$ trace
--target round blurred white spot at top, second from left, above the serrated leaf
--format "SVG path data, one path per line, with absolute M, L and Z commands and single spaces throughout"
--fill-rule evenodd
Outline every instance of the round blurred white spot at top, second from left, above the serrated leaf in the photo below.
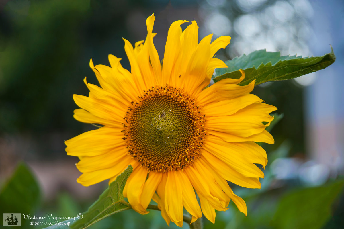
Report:
M 255 16 L 246 14 L 234 22 L 234 29 L 243 37 L 254 36 L 261 31 L 261 25 Z

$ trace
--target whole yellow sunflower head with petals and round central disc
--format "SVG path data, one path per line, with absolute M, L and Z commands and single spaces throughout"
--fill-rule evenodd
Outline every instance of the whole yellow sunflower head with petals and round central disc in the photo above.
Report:
M 80 159 L 78 183 L 111 183 L 131 165 L 123 195 L 132 208 L 147 214 L 153 199 L 166 223 L 180 227 L 183 207 L 192 222 L 202 212 L 215 222 L 215 209 L 225 211 L 232 199 L 246 215 L 244 200 L 227 181 L 260 188 L 264 173 L 255 164 L 265 168 L 267 155 L 255 142 L 273 143 L 265 128 L 273 120 L 269 113 L 276 110 L 248 94 L 254 81 L 237 85 L 245 77 L 242 70 L 240 79 L 207 87 L 214 69 L 227 67 L 213 56 L 230 37 L 211 43 L 210 34 L 198 43 L 197 23 L 182 31 L 185 22 L 171 24 L 162 64 L 153 44 L 154 15 L 147 19 L 146 41 L 132 47 L 123 39 L 131 72 L 113 55 L 111 67 L 94 66 L 91 59 L 101 87 L 84 79 L 89 96 L 73 96 L 81 108 L 74 118 L 103 126 L 65 142 L 67 154 Z

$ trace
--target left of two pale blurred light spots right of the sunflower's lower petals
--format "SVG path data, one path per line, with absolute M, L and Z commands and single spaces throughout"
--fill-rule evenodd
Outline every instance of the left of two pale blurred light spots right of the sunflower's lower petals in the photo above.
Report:
M 277 179 L 294 179 L 298 177 L 300 164 L 293 158 L 278 158 L 271 163 L 271 172 Z

